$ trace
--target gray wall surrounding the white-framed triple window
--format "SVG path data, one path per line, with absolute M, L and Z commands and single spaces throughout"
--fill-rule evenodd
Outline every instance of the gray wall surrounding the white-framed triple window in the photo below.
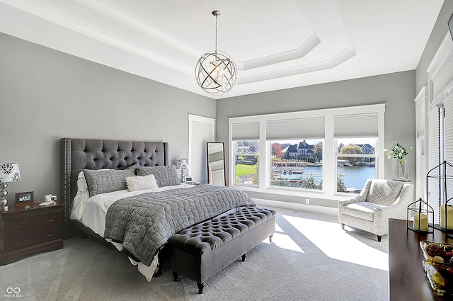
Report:
M 228 153 L 228 118 L 231 117 L 386 103 L 385 145 L 390 147 L 400 142 L 405 147 L 415 147 L 414 98 L 415 70 L 224 98 L 217 100 L 216 137 L 217 141 L 226 142 Z M 381 149 L 377 151 L 382 152 Z M 229 154 L 226 158 L 229 159 Z M 393 178 L 394 162 L 385 162 L 385 178 Z M 411 178 L 415 178 L 415 152 L 409 154 L 408 162 Z M 255 198 L 300 201 L 299 198 L 287 196 L 248 194 Z M 314 204 L 336 205 L 321 199 Z

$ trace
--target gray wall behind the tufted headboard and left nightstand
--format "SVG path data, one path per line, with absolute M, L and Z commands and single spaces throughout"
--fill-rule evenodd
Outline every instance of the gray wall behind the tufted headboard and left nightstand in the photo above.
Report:
M 211 98 L 0 33 L 0 162 L 9 183 L 35 200 L 59 193 L 62 137 L 169 142 L 170 163 L 188 156 L 188 113 L 215 118 Z

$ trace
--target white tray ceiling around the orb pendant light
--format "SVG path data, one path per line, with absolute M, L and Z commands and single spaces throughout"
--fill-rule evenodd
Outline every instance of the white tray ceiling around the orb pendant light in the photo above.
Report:
M 0 0 L 0 32 L 210 98 L 413 70 L 444 0 Z M 210 96 L 197 59 L 238 81 Z M 446 32 L 447 32 L 446 25 Z

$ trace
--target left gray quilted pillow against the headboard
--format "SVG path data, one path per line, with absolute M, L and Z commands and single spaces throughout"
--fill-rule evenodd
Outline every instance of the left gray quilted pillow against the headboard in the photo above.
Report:
M 134 169 L 84 169 L 84 174 L 90 198 L 99 193 L 110 193 L 127 189 L 125 178 L 127 176 L 135 176 Z

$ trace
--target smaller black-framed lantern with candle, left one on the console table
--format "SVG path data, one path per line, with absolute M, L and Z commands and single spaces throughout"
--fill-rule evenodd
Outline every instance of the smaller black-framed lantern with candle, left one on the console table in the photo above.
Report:
M 409 225 L 409 220 L 413 215 L 413 225 Z M 408 214 L 406 217 L 408 229 L 417 233 L 434 233 L 434 210 L 424 200 L 419 198 L 408 205 Z

